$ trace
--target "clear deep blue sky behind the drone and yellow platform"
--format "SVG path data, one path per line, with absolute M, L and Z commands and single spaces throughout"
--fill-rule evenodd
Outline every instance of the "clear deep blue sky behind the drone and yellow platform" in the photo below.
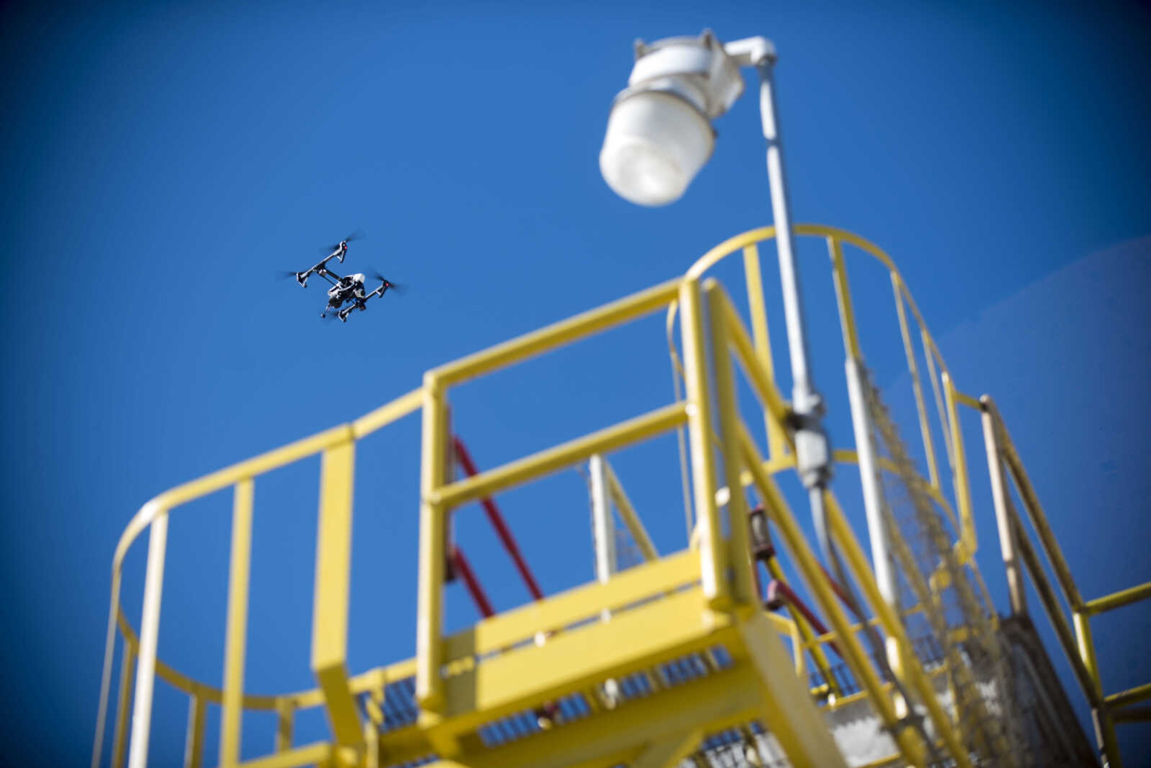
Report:
M 108 567 L 148 497 L 355 418 L 434 365 L 674 276 L 768 223 L 754 99 L 718 121 L 715 157 L 677 205 L 631 206 L 599 174 L 632 40 L 706 26 L 775 39 L 796 220 L 853 229 L 895 257 L 960 386 L 999 401 L 1083 592 L 1148 578 L 1137 446 L 1149 416 L 1146 9 L 8 3 L 9 754 L 37 744 L 45 760 L 86 759 Z M 318 290 L 274 272 L 310 266 L 318 246 L 358 227 L 368 238 L 350 264 L 410 290 L 345 326 L 323 324 Z M 801 258 L 816 381 L 833 438 L 849 444 L 834 410 L 843 368 L 825 257 L 805 246 Z M 853 277 L 875 283 L 851 264 Z M 889 341 L 864 344 L 895 397 L 901 349 Z M 782 350 L 780 341 L 780 363 Z M 670 397 L 653 318 L 470 385 L 452 403 L 478 462 L 491 466 Z M 977 419 L 967 427 L 978 458 Z M 418 431 L 407 419 L 359 449 L 356 670 L 414 646 Z M 613 457 L 664 550 L 684 538 L 678 481 L 664 473 L 674 461 L 670 439 Z M 304 462 L 257 484 L 251 690 L 310 685 L 317 472 Z M 844 495 L 857 493 L 852 472 L 840 470 Z M 984 487 L 982 472 L 973 481 Z M 197 502 L 171 524 L 161 655 L 206 679 L 222 668 L 228 503 Z M 547 591 L 590 578 L 578 474 L 501 503 Z M 978 515 L 981 562 L 1001 598 L 985 493 Z M 527 595 L 482 523 L 462 511 L 458 537 L 497 607 L 518 604 Z M 143 549 L 125 568 L 130 611 Z M 474 613 L 451 590 L 449 625 L 459 626 Z M 1110 690 L 1151 679 L 1133 644 L 1107 639 L 1145 626 L 1141 610 L 1097 624 Z M 182 707 L 161 686 L 158 765 L 178 760 Z M 1137 745 L 1138 727 L 1127 728 Z M 245 752 L 270 743 L 264 720 L 245 733 Z

